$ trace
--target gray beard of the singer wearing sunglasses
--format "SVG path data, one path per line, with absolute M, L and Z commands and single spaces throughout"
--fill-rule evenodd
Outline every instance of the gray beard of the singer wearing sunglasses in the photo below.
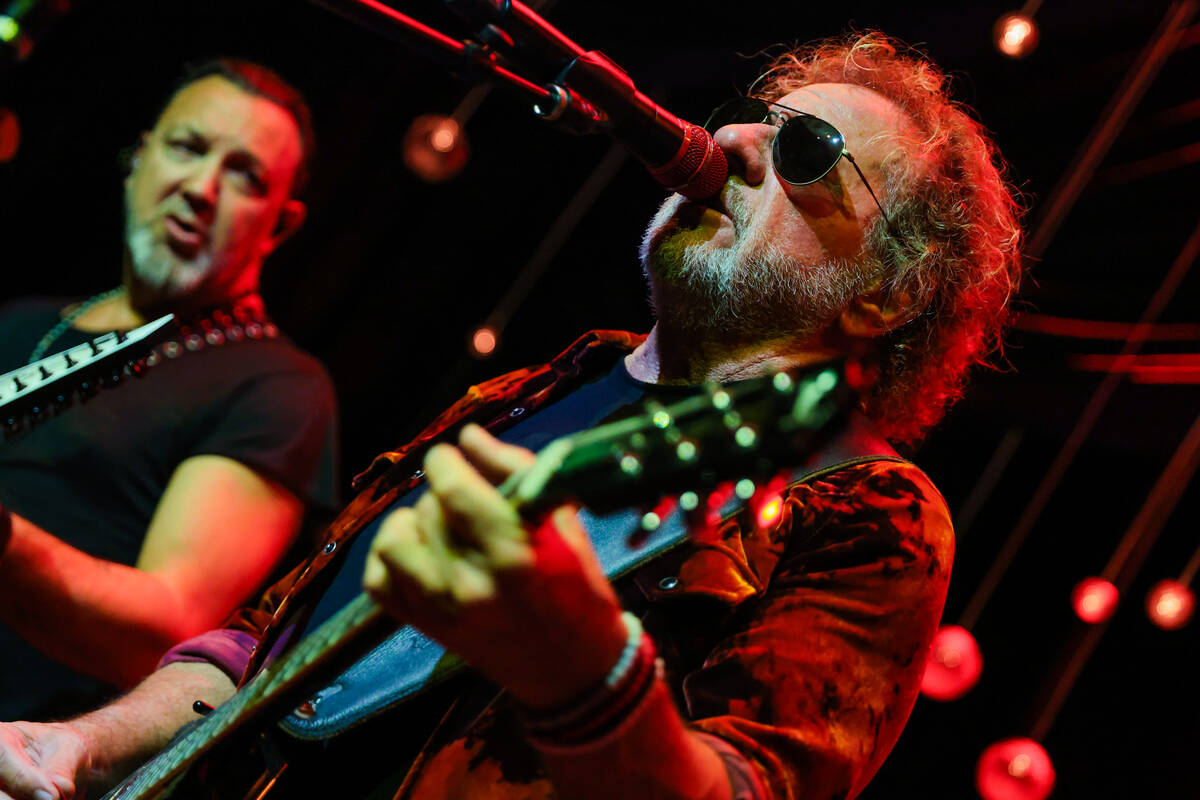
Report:
M 864 271 L 844 259 L 796 263 L 745 219 L 734 198 L 734 247 L 706 247 L 686 229 L 659 237 L 674 210 L 670 200 L 650 222 L 641 258 L 655 318 L 722 341 L 810 339 L 865 290 Z

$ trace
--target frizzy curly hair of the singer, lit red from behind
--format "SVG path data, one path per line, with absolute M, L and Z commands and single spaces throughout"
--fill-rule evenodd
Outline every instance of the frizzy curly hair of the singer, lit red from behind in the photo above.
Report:
M 778 100 L 816 83 L 871 89 L 899 107 L 916 136 L 883 160 L 880 198 L 890 230 L 868 231 L 866 266 L 906 291 L 916 318 L 881 337 L 878 379 L 864 405 L 884 435 L 913 443 L 962 392 L 966 374 L 1000 345 L 1021 277 L 1021 206 L 983 126 L 949 98 L 946 74 L 878 31 L 791 50 L 758 79 Z

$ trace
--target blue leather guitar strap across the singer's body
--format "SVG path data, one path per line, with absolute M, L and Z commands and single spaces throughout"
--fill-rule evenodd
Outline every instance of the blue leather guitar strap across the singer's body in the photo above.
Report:
M 875 433 L 865 416 L 853 413 L 841 432 L 792 471 L 788 485 L 871 461 L 904 459 Z M 721 517 L 736 513 L 742 505 L 740 499 L 731 497 L 720 509 Z M 641 518 L 636 509 L 602 517 L 580 511 L 600 565 L 611 581 L 688 540 L 688 527 L 678 507 L 648 534 L 641 530 Z M 631 539 L 635 533 L 636 539 Z M 330 739 L 432 688 L 463 667 L 463 662 L 442 645 L 406 625 L 317 692 L 305 704 L 304 715 L 293 712 L 280 727 L 298 739 Z

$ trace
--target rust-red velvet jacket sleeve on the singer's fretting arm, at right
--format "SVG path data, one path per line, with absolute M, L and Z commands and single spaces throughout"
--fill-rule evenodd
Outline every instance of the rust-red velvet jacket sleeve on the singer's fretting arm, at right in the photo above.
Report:
M 772 798 L 853 796 L 912 710 L 953 551 L 944 501 L 905 462 L 792 487 L 772 530 L 731 523 L 680 571 L 694 591 L 750 591 L 684 678 L 686 715 Z

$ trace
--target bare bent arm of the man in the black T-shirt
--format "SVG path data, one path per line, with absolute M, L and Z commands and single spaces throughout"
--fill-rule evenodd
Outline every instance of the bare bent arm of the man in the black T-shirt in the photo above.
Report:
M 72 668 L 132 685 L 262 583 L 301 515 L 290 492 L 222 456 L 176 468 L 136 567 L 92 558 L 13 515 L 0 619 Z

